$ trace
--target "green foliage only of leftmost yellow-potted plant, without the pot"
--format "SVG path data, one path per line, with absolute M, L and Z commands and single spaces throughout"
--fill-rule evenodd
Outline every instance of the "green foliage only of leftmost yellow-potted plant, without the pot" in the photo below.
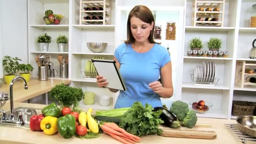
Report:
M 19 61 L 22 61 L 21 59 L 17 57 L 11 57 L 11 56 L 4 56 L 3 57 L 3 68 L 7 75 L 15 75 L 16 72 L 19 70 Z

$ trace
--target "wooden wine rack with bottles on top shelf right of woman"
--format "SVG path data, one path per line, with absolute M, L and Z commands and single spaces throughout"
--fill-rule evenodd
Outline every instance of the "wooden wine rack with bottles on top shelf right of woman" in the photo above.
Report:
M 192 26 L 223 27 L 225 0 L 193 0 Z

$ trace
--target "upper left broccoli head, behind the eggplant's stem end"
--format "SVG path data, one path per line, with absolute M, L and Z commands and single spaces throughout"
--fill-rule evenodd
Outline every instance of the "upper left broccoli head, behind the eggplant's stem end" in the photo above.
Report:
M 189 112 L 189 105 L 183 101 L 174 101 L 171 105 L 170 111 L 182 121 Z

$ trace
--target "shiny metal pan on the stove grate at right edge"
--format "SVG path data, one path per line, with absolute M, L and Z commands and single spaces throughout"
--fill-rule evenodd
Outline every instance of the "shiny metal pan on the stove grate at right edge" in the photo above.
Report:
M 243 133 L 256 137 L 256 116 L 241 116 L 237 117 L 236 121 Z

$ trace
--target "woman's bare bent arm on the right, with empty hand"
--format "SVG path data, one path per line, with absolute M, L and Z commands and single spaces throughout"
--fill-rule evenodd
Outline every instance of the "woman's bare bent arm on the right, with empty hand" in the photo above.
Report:
M 160 69 L 162 84 L 158 81 L 149 83 L 149 87 L 162 98 L 173 96 L 173 83 L 171 74 L 171 61 Z

